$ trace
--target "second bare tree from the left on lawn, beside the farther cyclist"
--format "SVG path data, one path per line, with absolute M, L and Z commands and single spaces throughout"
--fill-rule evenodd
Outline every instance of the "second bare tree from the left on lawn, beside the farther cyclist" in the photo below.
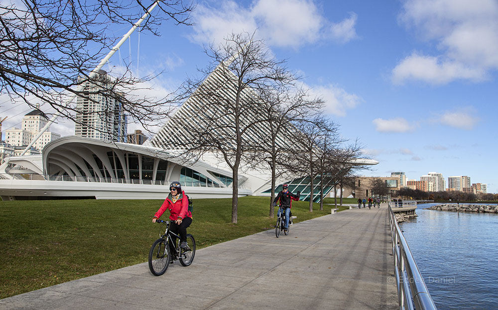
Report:
M 311 98 L 306 89 L 288 88 L 275 91 L 262 90 L 261 102 L 266 116 L 263 126 L 268 130 L 268 136 L 255 145 L 259 150 L 261 161 L 268 163 L 271 170 L 271 195 L 269 216 L 274 216 L 273 200 L 278 175 L 286 172 L 285 166 L 278 165 L 290 156 L 287 151 L 292 148 L 296 128 L 293 122 L 307 119 L 317 113 L 323 105 L 319 98 Z

